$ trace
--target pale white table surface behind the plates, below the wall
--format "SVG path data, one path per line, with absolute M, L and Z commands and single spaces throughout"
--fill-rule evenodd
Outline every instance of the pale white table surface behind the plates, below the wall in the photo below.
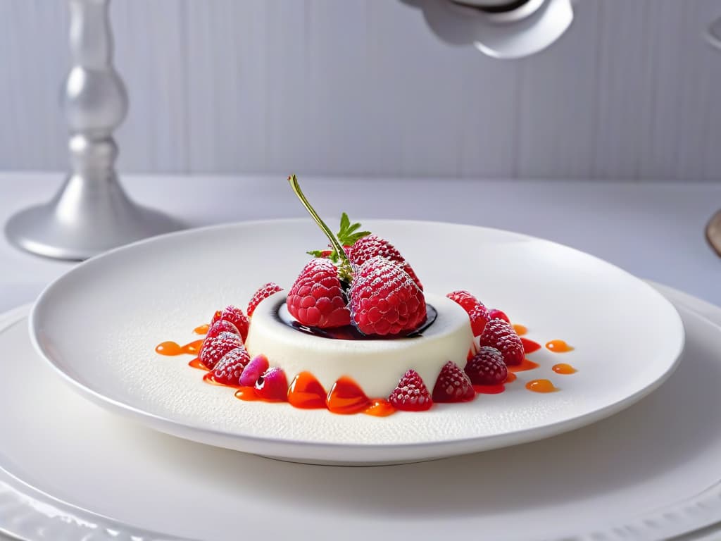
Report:
M 0 173 L 0 222 L 50 198 L 62 176 Z M 345 210 L 352 219 L 429 219 L 510 229 L 576 247 L 721 304 L 721 258 L 703 232 L 709 216 L 721 208 L 721 183 L 300 178 L 324 216 Z M 162 208 L 189 226 L 306 216 L 283 175 L 127 176 L 123 182 L 136 201 Z M 0 312 L 32 301 L 72 265 L 19 252 L 2 237 Z M 717 533 L 704 530 L 684 539 L 715 539 Z

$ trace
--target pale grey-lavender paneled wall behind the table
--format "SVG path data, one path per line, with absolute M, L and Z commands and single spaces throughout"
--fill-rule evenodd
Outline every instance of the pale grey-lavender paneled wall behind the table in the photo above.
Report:
M 578 0 L 544 53 L 399 0 L 113 0 L 120 168 L 721 180 L 719 0 Z M 64 169 L 63 0 L 0 0 L 0 170 Z

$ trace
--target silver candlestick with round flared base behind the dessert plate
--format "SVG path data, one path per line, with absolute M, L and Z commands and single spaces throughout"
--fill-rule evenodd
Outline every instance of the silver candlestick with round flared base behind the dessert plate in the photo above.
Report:
M 115 175 L 112 131 L 128 112 L 128 95 L 112 66 L 109 1 L 69 0 L 73 66 L 63 107 L 71 174 L 49 203 L 19 212 L 5 226 L 14 245 L 49 258 L 84 260 L 182 227 L 133 203 Z

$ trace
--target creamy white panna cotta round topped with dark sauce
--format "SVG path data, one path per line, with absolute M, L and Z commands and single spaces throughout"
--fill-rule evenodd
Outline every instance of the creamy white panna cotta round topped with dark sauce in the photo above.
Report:
M 297 330 L 278 317 L 286 296 L 276 293 L 253 312 L 245 346 L 250 356 L 267 356 L 280 366 L 288 382 L 309 371 L 326 391 L 343 376 L 350 377 L 371 398 L 385 398 L 409 369 L 423 378 L 429 392 L 443 365 L 453 361 L 461 369 L 473 345 L 468 314 L 445 296 L 426 295 L 438 316 L 421 335 L 410 338 L 341 340 Z

